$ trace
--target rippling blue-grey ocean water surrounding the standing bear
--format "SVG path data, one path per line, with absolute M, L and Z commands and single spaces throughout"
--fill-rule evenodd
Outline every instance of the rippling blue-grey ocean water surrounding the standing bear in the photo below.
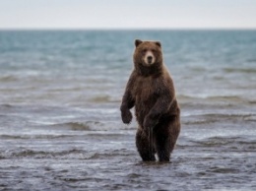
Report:
M 181 107 L 142 162 L 119 105 L 134 39 L 162 44 Z M 1 31 L 0 190 L 256 190 L 256 31 Z

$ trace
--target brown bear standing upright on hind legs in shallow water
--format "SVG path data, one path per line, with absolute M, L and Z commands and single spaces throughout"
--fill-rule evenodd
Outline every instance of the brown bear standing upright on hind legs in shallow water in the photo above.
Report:
M 134 70 L 120 106 L 122 121 L 131 122 L 130 109 L 135 106 L 139 123 L 136 146 L 141 158 L 156 160 L 157 153 L 160 161 L 169 161 L 180 132 L 173 82 L 163 65 L 160 41 L 136 39 L 135 46 Z

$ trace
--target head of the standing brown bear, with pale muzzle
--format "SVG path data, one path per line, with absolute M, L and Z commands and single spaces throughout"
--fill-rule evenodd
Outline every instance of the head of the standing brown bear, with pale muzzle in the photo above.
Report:
M 145 72 L 157 72 L 162 65 L 160 41 L 142 41 L 136 39 L 133 61 L 135 69 L 141 74 Z

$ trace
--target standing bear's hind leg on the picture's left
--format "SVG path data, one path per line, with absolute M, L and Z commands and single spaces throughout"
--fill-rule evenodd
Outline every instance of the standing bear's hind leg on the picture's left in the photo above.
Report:
M 136 134 L 136 146 L 141 158 L 144 161 L 155 161 L 155 149 L 150 149 L 149 136 L 139 128 Z

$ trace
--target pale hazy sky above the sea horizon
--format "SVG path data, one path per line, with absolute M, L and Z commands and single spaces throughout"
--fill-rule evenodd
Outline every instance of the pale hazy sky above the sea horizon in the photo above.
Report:
M 256 0 L 0 0 L 0 29 L 256 29 Z

